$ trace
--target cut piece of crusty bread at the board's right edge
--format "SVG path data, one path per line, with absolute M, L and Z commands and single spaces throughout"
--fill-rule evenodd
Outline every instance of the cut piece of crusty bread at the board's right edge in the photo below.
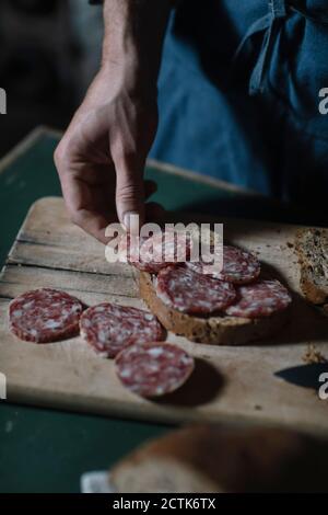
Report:
M 301 265 L 301 288 L 307 300 L 328 300 L 328 229 L 300 229 L 295 249 Z

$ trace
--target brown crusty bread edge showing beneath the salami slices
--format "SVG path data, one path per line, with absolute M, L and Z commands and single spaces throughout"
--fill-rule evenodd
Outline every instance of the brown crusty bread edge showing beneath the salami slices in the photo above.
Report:
M 166 306 L 157 297 L 152 276 L 140 273 L 140 296 L 167 331 L 192 342 L 214 345 L 242 345 L 265 339 L 277 332 L 288 320 L 289 309 L 271 317 L 248 319 L 239 317 L 192 317 Z

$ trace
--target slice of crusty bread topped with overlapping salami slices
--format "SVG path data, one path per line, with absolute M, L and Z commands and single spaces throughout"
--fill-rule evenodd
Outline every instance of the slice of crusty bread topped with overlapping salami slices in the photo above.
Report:
M 163 258 L 167 247 L 175 258 L 184 242 L 181 237 L 168 236 L 169 245 L 166 237 L 156 234 L 152 255 L 147 252 L 142 262 L 129 261 L 140 274 L 141 298 L 167 331 L 194 342 L 241 345 L 265 339 L 283 325 L 291 295 L 279 281 L 261 278 L 254 254 L 231 244 L 215 247 L 211 233 L 210 253 L 194 259 L 199 241 L 185 238 L 185 261 L 167 261 Z M 142 250 L 151 247 L 151 240 L 138 244 L 137 250 Z M 129 242 L 127 250 L 134 258 Z

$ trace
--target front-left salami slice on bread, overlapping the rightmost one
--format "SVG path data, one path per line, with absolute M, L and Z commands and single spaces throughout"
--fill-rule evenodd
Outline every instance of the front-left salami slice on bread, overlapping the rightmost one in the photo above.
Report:
M 236 297 L 232 284 L 197 274 L 186 266 L 167 266 L 160 271 L 155 288 L 164 304 L 189 314 L 221 311 Z

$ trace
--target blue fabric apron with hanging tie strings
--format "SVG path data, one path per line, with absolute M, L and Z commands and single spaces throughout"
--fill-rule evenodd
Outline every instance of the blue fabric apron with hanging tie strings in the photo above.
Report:
M 326 0 L 185 0 L 172 16 L 151 157 L 326 205 Z

